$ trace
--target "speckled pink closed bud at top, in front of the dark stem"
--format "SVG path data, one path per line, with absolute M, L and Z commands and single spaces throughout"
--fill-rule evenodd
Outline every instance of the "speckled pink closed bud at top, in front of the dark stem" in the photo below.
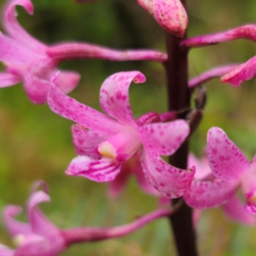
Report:
M 188 26 L 188 15 L 179 0 L 137 0 L 137 3 L 153 15 L 160 26 L 178 38 L 182 38 Z

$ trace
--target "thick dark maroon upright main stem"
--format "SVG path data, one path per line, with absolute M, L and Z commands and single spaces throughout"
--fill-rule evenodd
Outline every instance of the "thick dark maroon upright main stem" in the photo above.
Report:
M 185 7 L 185 0 L 181 1 Z M 190 108 L 190 92 L 188 87 L 188 50 L 181 49 L 182 39 L 166 32 L 166 50 L 168 61 L 165 63 L 168 110 L 181 111 Z M 186 112 L 184 112 L 186 113 Z M 181 116 L 185 118 L 185 116 Z M 186 140 L 175 154 L 170 157 L 173 166 L 187 169 L 189 140 Z M 174 204 L 182 199 L 174 200 Z M 195 230 L 192 222 L 192 209 L 183 203 L 177 212 L 170 216 L 173 235 L 179 256 L 197 256 Z

